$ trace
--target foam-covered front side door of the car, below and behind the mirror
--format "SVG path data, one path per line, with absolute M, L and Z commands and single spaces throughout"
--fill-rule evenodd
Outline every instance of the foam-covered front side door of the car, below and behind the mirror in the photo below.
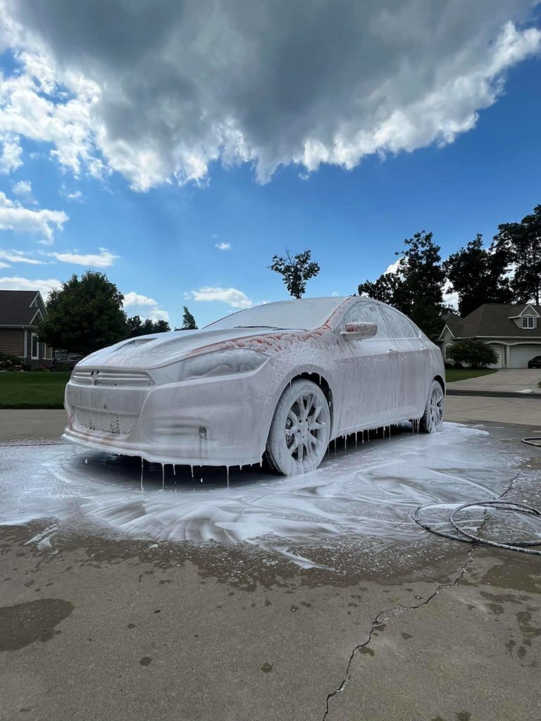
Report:
M 363 340 L 346 340 L 349 322 L 374 322 L 377 334 Z M 338 377 L 342 380 L 339 433 L 377 428 L 394 417 L 395 381 L 390 372 L 387 325 L 374 301 L 359 299 L 344 314 L 336 332 L 340 337 Z

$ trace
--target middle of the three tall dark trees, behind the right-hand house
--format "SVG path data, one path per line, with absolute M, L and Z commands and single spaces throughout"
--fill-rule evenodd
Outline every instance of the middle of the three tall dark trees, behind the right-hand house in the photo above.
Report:
M 483 236 L 477 234 L 465 248 L 449 255 L 443 263 L 452 290 L 458 293 L 458 311 L 467 316 L 483 303 L 511 303 L 513 294 L 506 272 L 509 252 L 495 244 L 483 248 Z

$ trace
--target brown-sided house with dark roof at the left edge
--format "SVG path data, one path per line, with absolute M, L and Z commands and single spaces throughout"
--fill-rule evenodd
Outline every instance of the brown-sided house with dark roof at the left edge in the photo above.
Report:
M 0 291 L 0 353 L 17 355 L 30 366 L 50 366 L 50 347 L 38 340 L 36 325 L 46 313 L 39 292 Z

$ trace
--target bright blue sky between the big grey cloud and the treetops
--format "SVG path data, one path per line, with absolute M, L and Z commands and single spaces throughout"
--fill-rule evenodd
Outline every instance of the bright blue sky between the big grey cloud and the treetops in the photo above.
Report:
M 524 27 L 536 27 L 532 17 Z M 29 74 L 21 51 L 17 44 L 1 56 L 4 81 Z M 41 77 L 33 102 L 44 97 L 59 106 L 66 97 L 76 98 L 73 86 L 68 96 L 61 94 L 66 87 L 59 77 L 49 87 Z M 174 327 L 188 305 L 203 325 L 243 304 L 286 298 L 281 278 L 268 270 L 272 256 L 286 247 L 312 250 L 321 272 L 309 281 L 307 296 L 320 296 L 356 292 L 360 282 L 395 261 L 406 236 L 421 229 L 434 231 L 444 256 L 478 232 L 490 241 L 498 223 L 519 220 L 541 202 L 537 50 L 509 63 L 490 83 L 501 84 L 491 102 L 481 97 L 478 107 L 467 110 L 478 110 L 475 126 L 443 146 L 428 133 L 411 150 L 376 148 L 352 169 L 333 160 L 312 172 L 291 162 L 290 151 L 289 162 L 275 163 L 267 182 L 260 182 L 255 169 L 263 149 L 230 167 L 224 167 L 223 154 L 209 156 L 202 177 L 188 182 L 184 176 L 178 182 L 178 168 L 171 173 L 160 165 L 159 180 L 134 189 L 133 169 L 123 169 L 122 158 L 105 141 L 100 147 L 97 125 L 89 129 L 79 115 L 77 127 L 93 133 L 87 157 L 81 151 L 86 141 L 77 141 L 79 168 L 56 131 L 43 125 L 32 137 L 19 119 L 2 135 L 0 123 L 0 141 L 12 143 L 0 175 L 7 218 L 0 226 L 0 287 L 45 292 L 92 268 L 126 294 L 128 314 L 169 317 Z M 4 106 L 4 112 L 11 111 Z M 129 138 L 133 145 L 137 141 Z M 18 153 L 13 162 L 10 152 Z M 48 220 L 38 218 L 39 211 L 66 215 Z

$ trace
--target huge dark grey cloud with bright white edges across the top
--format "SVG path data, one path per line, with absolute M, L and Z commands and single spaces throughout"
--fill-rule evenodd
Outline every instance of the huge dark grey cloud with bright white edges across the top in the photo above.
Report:
M 534 53 L 532 0 L 6 0 L 23 71 L 0 133 L 138 190 L 205 182 L 211 162 L 353 168 L 454 141 Z M 118 32 L 122 28 L 122 32 Z

